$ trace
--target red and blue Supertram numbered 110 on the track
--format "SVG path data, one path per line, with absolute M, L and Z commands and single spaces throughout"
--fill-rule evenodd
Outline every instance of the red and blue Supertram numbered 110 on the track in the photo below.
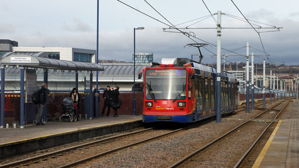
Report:
M 215 116 L 216 70 L 190 62 L 143 69 L 144 123 L 191 123 Z M 237 109 L 237 80 L 222 72 L 221 113 Z

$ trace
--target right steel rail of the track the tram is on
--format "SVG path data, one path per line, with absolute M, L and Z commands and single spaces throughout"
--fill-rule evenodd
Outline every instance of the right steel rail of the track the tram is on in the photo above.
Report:
M 83 162 L 85 162 L 87 160 L 90 160 L 90 159 L 93 159 L 93 158 L 96 158 L 96 157 L 99 157 L 99 156 L 103 156 L 105 154 L 112 153 L 112 152 L 115 152 L 115 151 L 118 151 L 118 150 L 130 147 L 130 146 L 134 146 L 134 145 L 146 142 L 146 141 L 150 141 L 150 140 L 153 140 L 153 139 L 156 139 L 156 138 L 160 138 L 160 137 L 163 137 L 165 135 L 181 131 L 183 129 L 185 129 L 185 128 L 180 128 L 180 129 L 177 129 L 177 130 L 174 130 L 174 131 L 170 131 L 170 132 L 162 134 L 162 135 L 158 135 L 158 136 L 155 136 L 155 137 L 152 137 L 152 138 L 148 138 L 148 139 L 145 139 L 145 140 L 142 140 L 142 141 L 134 142 L 134 143 L 131 143 L 131 144 L 128 144 L 128 145 L 125 145 L 125 146 L 118 147 L 118 148 L 114 148 L 114 149 L 111 149 L 111 150 L 108 150 L 108 151 L 105 151 L 105 152 L 102 152 L 102 153 L 95 154 L 95 155 L 90 156 L 90 157 L 86 157 L 86 158 L 81 159 L 81 160 L 77 160 L 77 161 L 69 163 L 69 164 L 65 164 L 65 165 L 59 166 L 58 168 L 75 166 L 75 165 L 83 163 Z

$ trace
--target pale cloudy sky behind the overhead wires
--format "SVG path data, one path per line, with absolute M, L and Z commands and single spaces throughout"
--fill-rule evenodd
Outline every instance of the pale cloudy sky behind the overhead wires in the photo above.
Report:
M 161 21 L 173 25 L 210 15 L 203 1 L 199 0 L 122 0 L 133 8 Z M 154 9 L 154 7 L 161 17 Z M 299 47 L 299 2 L 295 0 L 278 1 L 241 1 L 233 0 L 242 14 L 249 20 L 283 27 L 280 31 L 260 33 L 265 51 L 270 54 L 271 63 L 280 65 L 299 65 L 297 48 Z M 242 17 L 230 0 L 205 1 L 212 14 L 221 11 L 221 26 L 251 27 L 248 23 L 229 16 Z M 96 49 L 96 1 L 93 0 L 0 0 L 0 39 L 19 42 L 19 46 L 76 47 Z M 217 16 L 215 16 L 217 19 Z M 99 59 L 132 61 L 134 34 L 136 30 L 136 53 L 153 52 L 154 61 L 162 58 L 191 58 L 198 54 L 195 47 L 184 47 L 195 43 L 182 33 L 163 32 L 169 26 L 147 17 L 116 0 L 99 0 Z M 199 21 L 199 20 L 196 20 Z M 196 21 L 178 25 L 185 28 Z M 262 27 L 271 27 L 255 22 Z M 212 17 L 195 23 L 189 28 L 216 28 Z M 261 29 L 274 31 L 277 29 Z M 174 30 L 176 31 L 176 30 Z M 182 29 L 209 43 L 217 44 L 216 29 Z M 246 42 L 250 43 L 250 54 L 263 55 L 263 47 L 258 33 L 254 29 L 222 29 L 221 46 L 225 49 L 241 49 L 236 52 L 246 54 Z M 194 39 L 194 38 L 193 38 Z M 198 43 L 206 43 L 194 39 Z M 202 63 L 216 62 L 213 45 L 202 49 Z M 256 48 L 256 49 L 255 49 Z M 261 51 L 259 51 L 261 50 Z M 222 49 L 222 54 L 226 53 Z M 236 57 L 227 53 L 227 62 L 244 62 L 245 57 Z M 262 63 L 265 57 L 258 56 L 255 62 Z M 278 61 L 274 61 L 278 60 Z M 194 57 L 198 60 L 198 57 Z M 266 62 L 269 62 L 266 59 Z

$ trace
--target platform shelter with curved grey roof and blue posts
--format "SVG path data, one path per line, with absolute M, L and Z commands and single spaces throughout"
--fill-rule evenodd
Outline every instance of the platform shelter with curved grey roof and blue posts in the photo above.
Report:
M 35 106 L 31 102 L 31 95 L 36 91 L 37 76 L 36 70 L 43 69 L 43 83 L 48 83 L 48 72 L 58 71 L 75 72 L 75 87 L 78 88 L 78 73 L 82 71 L 89 72 L 89 80 L 92 81 L 94 71 L 104 71 L 104 67 L 94 63 L 71 62 L 65 60 L 55 60 L 47 58 L 47 52 L 23 53 L 23 52 L 8 52 L 4 54 L 0 60 L 1 67 L 1 101 L 0 101 L 0 128 L 4 128 L 4 106 L 5 106 L 5 69 L 9 67 L 20 67 L 20 128 L 24 128 L 24 115 L 34 111 Z M 26 80 L 24 79 L 26 73 Z M 26 83 L 25 83 L 26 81 Z M 66 80 L 67 82 L 67 80 Z M 26 84 L 26 87 L 25 87 Z M 89 119 L 93 118 L 93 92 L 92 82 L 89 83 L 88 98 L 90 103 Z M 26 88 L 26 90 L 25 90 Z M 96 95 L 98 96 L 98 94 Z M 47 96 L 46 96 L 47 97 Z M 97 107 L 97 105 L 95 105 Z M 31 112 L 30 112 L 31 111 Z M 44 114 L 47 111 L 47 98 L 44 104 Z M 46 115 L 43 120 L 46 121 Z

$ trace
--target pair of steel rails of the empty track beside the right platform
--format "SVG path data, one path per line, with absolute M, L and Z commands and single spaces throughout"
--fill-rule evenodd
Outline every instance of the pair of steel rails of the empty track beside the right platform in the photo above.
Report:
M 244 127 L 245 125 L 252 123 L 251 122 L 252 120 L 257 119 L 257 118 L 263 116 L 263 114 L 267 113 L 267 111 L 269 111 L 271 109 L 274 109 L 275 107 L 277 108 L 280 104 L 282 104 L 285 101 L 287 101 L 287 103 L 285 105 L 283 105 L 283 107 L 279 110 L 279 113 L 274 117 L 274 119 L 272 120 L 272 122 L 270 124 L 268 124 L 268 126 L 262 131 L 262 133 L 258 136 L 258 138 L 250 146 L 250 148 L 248 148 L 247 151 L 241 156 L 241 158 L 235 163 L 234 167 L 238 167 L 242 163 L 242 161 L 246 158 L 247 154 L 250 153 L 250 151 L 254 148 L 254 146 L 257 144 L 257 142 L 260 140 L 260 138 L 263 136 L 263 134 L 267 131 L 267 129 L 274 123 L 275 119 L 278 117 L 278 115 L 281 113 L 281 111 L 286 107 L 286 105 L 288 104 L 289 100 L 286 99 L 286 100 L 283 100 L 283 101 L 281 101 L 281 102 L 279 102 L 279 103 L 271 106 L 270 108 L 264 110 L 262 113 L 260 113 L 256 117 L 254 117 L 254 118 L 252 118 L 252 119 L 250 119 L 250 120 L 248 120 L 248 121 L 246 121 L 246 122 L 238 125 L 237 127 L 235 127 L 234 129 L 228 131 L 227 133 L 223 134 L 222 136 L 220 136 L 220 137 L 214 139 L 213 141 L 210 141 L 208 144 L 202 146 L 200 149 L 197 149 L 197 150 L 193 151 L 192 153 L 189 153 L 188 155 L 186 155 L 182 159 L 180 159 L 180 160 L 176 161 L 175 163 L 173 163 L 172 165 L 170 165 L 169 168 L 170 167 L 178 167 L 178 166 L 180 166 L 182 164 L 185 165 L 185 166 L 183 165 L 183 167 L 188 167 L 189 165 L 187 164 L 187 162 L 188 161 L 194 161 L 195 159 L 193 159 L 193 158 L 196 157 L 196 156 L 200 157 L 200 155 L 198 155 L 199 153 L 205 151 L 206 149 L 208 150 L 208 148 L 212 149 L 213 145 L 215 145 L 217 142 L 220 142 L 221 140 L 227 139 L 227 137 L 229 135 L 231 135 L 232 133 L 238 132 L 239 129 L 241 129 L 241 127 Z M 219 146 L 220 145 L 218 144 L 218 147 Z M 214 148 L 217 148 L 217 145 Z M 217 149 L 217 151 L 218 150 L 219 149 Z M 209 152 L 207 152 L 207 153 L 209 153 Z M 202 159 L 204 159 L 206 157 L 207 153 L 205 153 L 205 155 L 201 155 L 203 157 Z M 212 154 L 212 153 L 209 153 L 209 154 Z

